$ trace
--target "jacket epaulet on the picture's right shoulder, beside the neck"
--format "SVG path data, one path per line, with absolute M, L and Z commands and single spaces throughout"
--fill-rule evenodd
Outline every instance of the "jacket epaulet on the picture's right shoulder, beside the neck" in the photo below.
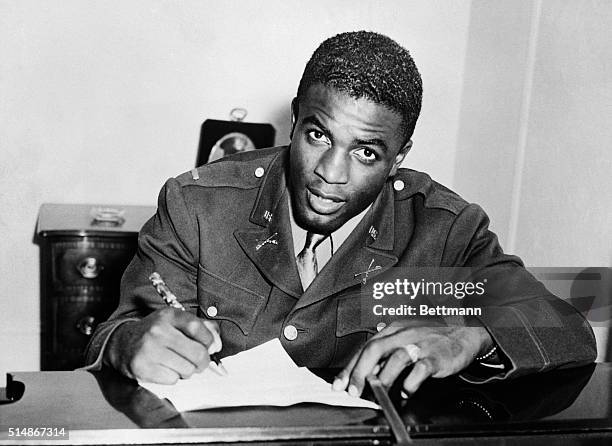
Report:
M 415 194 L 423 197 L 425 207 L 461 212 L 468 202 L 458 194 L 431 179 L 429 175 L 412 169 L 399 169 L 393 180 L 395 199 L 405 200 Z

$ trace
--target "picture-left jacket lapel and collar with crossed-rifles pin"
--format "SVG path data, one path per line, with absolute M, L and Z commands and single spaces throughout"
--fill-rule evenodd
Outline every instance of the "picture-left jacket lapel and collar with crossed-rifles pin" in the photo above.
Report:
M 286 151 L 270 163 L 251 212 L 257 225 L 234 231 L 245 254 L 266 279 L 296 299 L 302 294 L 289 223 Z

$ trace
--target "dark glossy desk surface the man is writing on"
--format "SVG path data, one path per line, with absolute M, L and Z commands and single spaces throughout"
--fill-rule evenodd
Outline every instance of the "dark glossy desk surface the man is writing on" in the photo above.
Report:
M 13 378 L 13 392 L 19 382 L 25 389 L 18 401 L 0 406 L 0 444 L 17 444 L 8 429 L 20 426 L 69 429 L 69 440 L 48 444 L 393 441 L 382 414 L 371 409 L 302 404 L 178 413 L 112 371 Z M 415 444 L 610 444 L 611 379 L 612 364 L 598 364 L 484 386 L 430 380 L 408 401 L 396 398 L 396 389 L 391 394 Z

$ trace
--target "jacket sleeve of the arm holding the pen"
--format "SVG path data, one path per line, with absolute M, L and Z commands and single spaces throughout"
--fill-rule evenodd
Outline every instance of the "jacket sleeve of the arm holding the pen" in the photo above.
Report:
M 119 306 L 98 325 L 87 346 L 86 370 L 101 367 L 104 347 L 120 324 L 164 306 L 149 281 L 152 272 L 164 278 L 187 310 L 196 311 L 198 224 L 182 189 L 170 179 L 159 193 L 157 212 L 140 231 L 136 255 L 121 279 Z

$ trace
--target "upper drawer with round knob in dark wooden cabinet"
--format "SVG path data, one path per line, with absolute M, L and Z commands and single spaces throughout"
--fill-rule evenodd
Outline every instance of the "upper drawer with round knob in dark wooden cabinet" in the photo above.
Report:
M 127 240 L 63 241 L 51 249 L 54 290 L 61 291 L 79 286 L 116 288 L 136 245 Z

